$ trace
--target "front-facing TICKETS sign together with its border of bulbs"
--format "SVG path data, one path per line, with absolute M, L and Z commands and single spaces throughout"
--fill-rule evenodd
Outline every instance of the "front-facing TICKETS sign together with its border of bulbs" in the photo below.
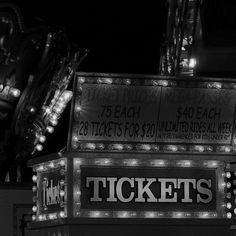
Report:
M 224 218 L 223 169 L 218 161 L 75 158 L 74 216 Z

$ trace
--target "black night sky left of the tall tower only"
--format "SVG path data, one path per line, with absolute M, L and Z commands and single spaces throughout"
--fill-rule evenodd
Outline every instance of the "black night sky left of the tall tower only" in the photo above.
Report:
M 91 49 L 78 71 L 158 74 L 166 31 L 166 1 L 127 2 L 14 1 L 26 27 L 37 24 L 62 27 L 71 45 Z M 44 150 L 34 156 L 57 152 L 66 146 L 69 113 L 70 104 L 55 132 L 47 136 Z

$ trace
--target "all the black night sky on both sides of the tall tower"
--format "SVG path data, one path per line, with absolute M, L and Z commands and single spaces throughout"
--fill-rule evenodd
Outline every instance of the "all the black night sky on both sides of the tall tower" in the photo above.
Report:
M 27 27 L 63 27 L 71 45 L 91 48 L 78 71 L 158 74 L 166 32 L 166 0 L 11 0 Z M 201 76 L 236 77 L 236 1 L 204 0 L 201 8 Z M 70 84 L 72 88 L 72 83 Z M 43 152 L 66 146 L 70 104 Z M 37 154 L 38 155 L 38 154 Z

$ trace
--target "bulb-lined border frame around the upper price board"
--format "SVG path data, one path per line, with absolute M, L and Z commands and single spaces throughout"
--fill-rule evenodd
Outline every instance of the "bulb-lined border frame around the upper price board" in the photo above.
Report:
M 129 75 L 129 74 L 105 74 L 105 73 L 76 73 L 74 78 L 74 96 L 71 105 L 69 135 L 67 142 L 68 151 L 82 152 L 148 152 L 148 153 L 196 153 L 196 154 L 233 154 L 236 152 L 236 119 L 235 108 L 232 118 L 231 143 L 225 144 L 204 144 L 204 143 L 173 143 L 164 141 L 138 142 L 138 141 L 110 141 L 110 140 L 74 140 L 73 122 L 76 99 L 82 94 L 83 84 L 112 84 L 112 85 L 133 85 L 133 86 L 155 86 L 155 87 L 177 87 L 177 88 L 199 88 L 199 89 L 229 89 L 235 90 L 236 83 L 232 79 L 218 78 L 187 78 L 154 75 Z

